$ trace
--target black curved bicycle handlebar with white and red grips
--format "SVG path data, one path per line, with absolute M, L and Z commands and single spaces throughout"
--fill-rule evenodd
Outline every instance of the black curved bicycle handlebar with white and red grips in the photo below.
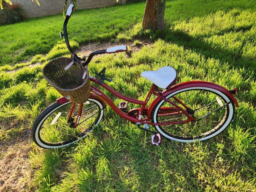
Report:
M 94 55 L 98 55 L 98 54 L 104 54 L 104 53 L 117 53 L 117 52 L 123 52 L 123 51 L 127 51 L 127 46 L 126 45 L 121 45 L 121 46 L 115 46 L 115 47 L 109 47 L 105 50 L 99 50 L 99 51 L 94 51 L 92 52 L 86 61 L 84 60 L 81 60 L 81 58 L 79 58 L 76 53 L 74 53 L 70 47 L 70 44 L 69 44 L 69 41 L 68 41 L 68 32 L 67 32 L 67 24 L 68 24 L 68 20 L 69 18 L 71 17 L 71 14 L 74 10 L 74 5 L 73 4 L 70 4 L 68 6 L 68 10 L 67 10 L 67 13 L 66 13 L 66 18 L 65 18 L 65 21 L 64 21 L 64 24 L 63 24 L 63 31 L 64 31 L 64 34 L 61 33 L 60 31 L 60 37 L 62 38 L 64 36 L 65 38 L 65 42 L 67 44 L 67 47 L 68 47 L 68 51 L 72 54 L 72 57 L 73 57 L 73 60 L 77 61 L 77 62 L 81 62 L 83 61 L 83 66 L 85 65 L 88 65 L 90 63 L 90 61 L 92 60 L 92 57 Z

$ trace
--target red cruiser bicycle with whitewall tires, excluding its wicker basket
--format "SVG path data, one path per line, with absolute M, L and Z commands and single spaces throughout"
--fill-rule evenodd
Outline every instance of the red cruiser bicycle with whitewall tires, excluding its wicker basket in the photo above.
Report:
M 127 51 L 127 46 L 110 47 L 92 52 L 88 59 L 80 59 L 68 42 L 67 23 L 74 5 L 68 8 L 64 21 L 65 41 L 74 61 L 87 67 L 96 54 Z M 42 148 L 61 148 L 84 138 L 103 118 L 106 103 L 121 117 L 136 124 L 138 128 L 154 133 L 152 142 L 161 144 L 161 136 L 180 142 L 207 140 L 222 132 L 230 123 L 235 113 L 237 100 L 233 95 L 236 89 L 228 91 L 224 87 L 205 81 L 176 83 L 177 73 L 172 67 L 162 67 L 156 71 L 144 71 L 141 76 L 152 82 L 144 101 L 126 97 L 115 91 L 104 81 L 111 81 L 104 76 L 105 68 L 95 72 L 100 79 L 89 76 L 90 81 L 111 92 L 116 97 L 138 104 L 140 108 L 126 111 L 127 102 L 117 107 L 103 92 L 91 85 L 90 98 L 85 103 L 72 103 L 61 97 L 48 106 L 36 118 L 32 135 L 35 143 Z M 148 100 L 154 95 L 154 100 Z M 153 125 L 156 131 L 149 129 Z M 143 127 L 142 127 L 143 126 Z

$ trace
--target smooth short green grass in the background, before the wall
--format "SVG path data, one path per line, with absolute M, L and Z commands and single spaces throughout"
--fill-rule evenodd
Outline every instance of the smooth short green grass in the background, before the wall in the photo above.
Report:
M 167 1 L 165 20 L 168 25 L 173 25 L 176 20 L 188 20 L 232 8 L 254 9 L 255 4 L 253 0 Z M 115 39 L 120 31 L 142 21 L 144 9 L 145 3 L 141 2 L 76 11 L 68 24 L 69 38 L 79 44 Z M 0 65 L 11 65 L 36 54 L 48 53 L 59 40 L 63 21 L 62 14 L 58 14 L 0 27 Z

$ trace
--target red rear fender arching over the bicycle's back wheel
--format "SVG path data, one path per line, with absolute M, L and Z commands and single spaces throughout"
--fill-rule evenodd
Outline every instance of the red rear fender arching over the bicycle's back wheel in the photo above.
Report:
M 226 88 L 215 84 L 215 83 L 211 83 L 211 82 L 207 82 L 207 81 L 188 81 L 188 82 L 184 82 L 184 83 L 180 83 L 180 84 L 176 84 L 174 86 L 172 86 L 170 89 L 165 90 L 162 92 L 162 96 L 166 97 L 167 95 L 176 92 L 178 90 L 181 89 L 186 89 L 189 87 L 207 87 L 207 88 L 212 88 L 212 89 L 216 89 L 220 92 L 225 93 L 231 100 L 233 100 L 233 102 L 235 103 L 236 107 L 238 107 L 238 102 L 235 99 L 235 97 L 232 95 L 231 92 L 229 92 Z M 156 97 L 152 103 L 149 105 L 148 107 L 148 118 L 150 118 L 151 116 L 151 112 L 153 110 L 153 108 L 155 107 L 155 105 L 162 100 L 160 97 Z

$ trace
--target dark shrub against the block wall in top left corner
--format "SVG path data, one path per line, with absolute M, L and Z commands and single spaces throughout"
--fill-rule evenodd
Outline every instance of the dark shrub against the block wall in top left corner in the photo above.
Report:
M 4 20 L 6 24 L 20 22 L 24 19 L 24 13 L 20 4 L 7 4 L 4 3 L 4 9 L 0 10 L 0 19 Z

